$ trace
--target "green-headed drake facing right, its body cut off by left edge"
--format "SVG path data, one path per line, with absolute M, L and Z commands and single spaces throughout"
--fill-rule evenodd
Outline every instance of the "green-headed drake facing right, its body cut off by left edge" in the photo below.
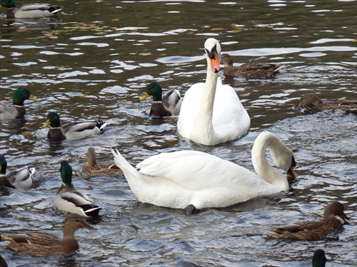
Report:
M 27 88 L 17 88 L 12 95 L 13 105 L 0 102 L 0 120 L 15 120 L 26 115 L 25 100 L 39 101 Z

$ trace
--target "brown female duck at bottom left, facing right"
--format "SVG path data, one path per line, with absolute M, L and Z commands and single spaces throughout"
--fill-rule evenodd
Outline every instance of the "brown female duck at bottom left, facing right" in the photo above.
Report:
M 83 218 L 78 215 L 67 216 L 64 220 L 64 237 L 43 232 L 25 232 L 9 234 L 8 241 L 5 241 L 9 248 L 21 251 L 34 256 L 52 256 L 70 253 L 79 249 L 78 241 L 74 237 L 74 232 L 78 229 L 96 230 L 96 228 L 86 224 Z

